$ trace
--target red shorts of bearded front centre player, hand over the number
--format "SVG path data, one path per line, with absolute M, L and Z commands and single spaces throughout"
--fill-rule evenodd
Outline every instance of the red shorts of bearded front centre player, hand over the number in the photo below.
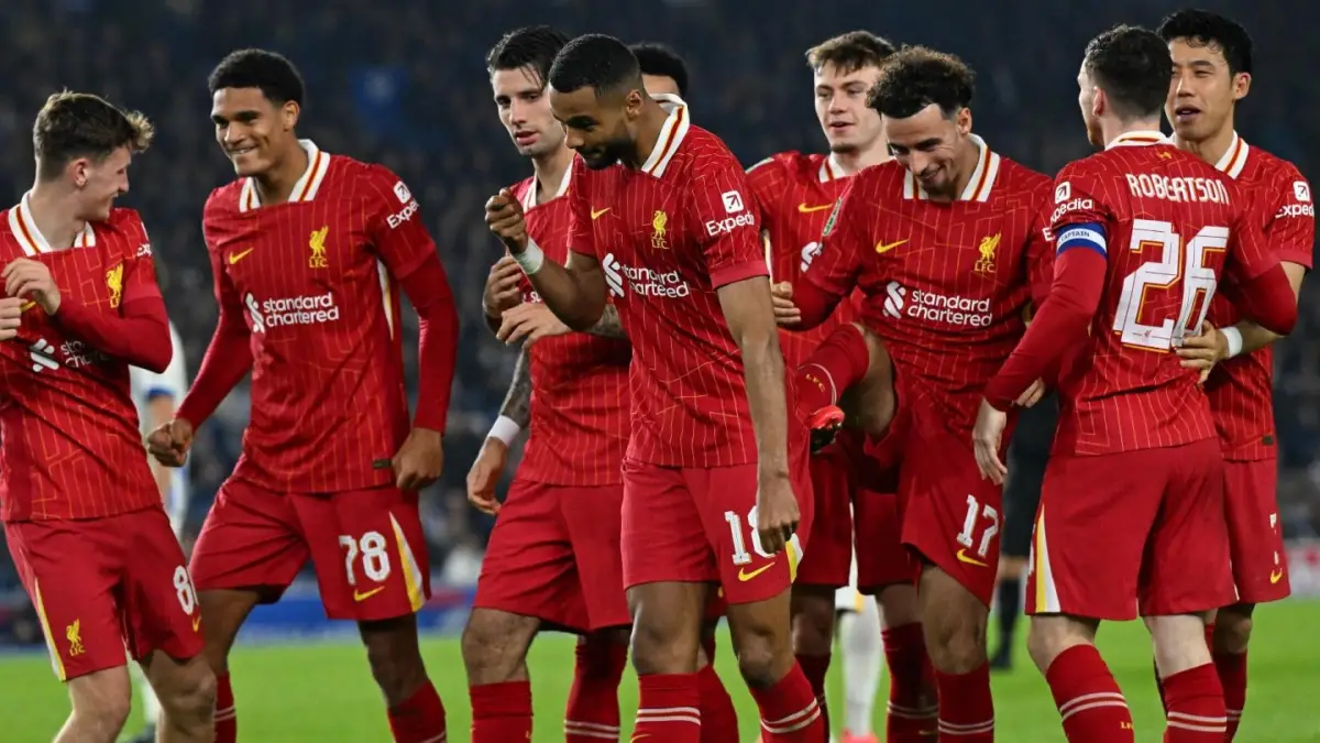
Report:
M 623 584 L 719 583 L 730 604 L 787 591 L 812 533 L 807 456 L 792 457 L 797 533 L 781 554 L 756 534 L 756 464 L 705 469 L 623 460 Z

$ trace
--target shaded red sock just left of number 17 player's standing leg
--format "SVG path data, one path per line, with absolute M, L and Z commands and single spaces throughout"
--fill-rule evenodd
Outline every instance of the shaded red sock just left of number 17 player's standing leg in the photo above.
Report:
M 890 743 L 928 743 L 939 727 L 935 670 L 925 653 L 921 624 L 887 627 L 884 660 L 890 666 L 890 703 L 884 738 Z

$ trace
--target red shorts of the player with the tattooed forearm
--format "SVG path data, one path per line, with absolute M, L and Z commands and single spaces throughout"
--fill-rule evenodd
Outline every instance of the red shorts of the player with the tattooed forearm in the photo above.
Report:
M 622 509 L 623 485 L 515 477 L 495 518 L 474 606 L 577 632 L 630 624 Z

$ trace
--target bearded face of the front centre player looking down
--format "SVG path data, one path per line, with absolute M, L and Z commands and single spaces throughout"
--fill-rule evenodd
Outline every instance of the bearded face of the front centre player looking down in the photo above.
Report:
M 632 123 L 642 112 L 642 102 L 636 90 L 598 95 L 590 86 L 570 91 L 550 87 L 550 110 L 564 124 L 566 144 L 594 171 L 636 149 Z

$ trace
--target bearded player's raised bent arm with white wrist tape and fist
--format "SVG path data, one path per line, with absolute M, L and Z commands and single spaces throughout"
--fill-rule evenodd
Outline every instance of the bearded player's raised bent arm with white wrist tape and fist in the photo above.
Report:
M 579 182 L 579 178 L 574 178 L 574 182 Z M 591 206 L 582 190 L 574 188 L 569 192 L 569 198 L 573 200 L 573 221 L 569 231 L 572 237 L 568 266 L 545 259 L 536 241 L 527 234 L 523 205 L 508 189 L 500 190 L 486 202 L 486 223 L 523 267 L 523 272 L 550 312 L 569 328 L 586 332 L 595 327 L 605 313 L 607 290 L 601 262 L 594 254 L 578 253 L 590 250 L 591 245 Z M 585 215 L 579 214 L 582 210 L 586 212 Z

